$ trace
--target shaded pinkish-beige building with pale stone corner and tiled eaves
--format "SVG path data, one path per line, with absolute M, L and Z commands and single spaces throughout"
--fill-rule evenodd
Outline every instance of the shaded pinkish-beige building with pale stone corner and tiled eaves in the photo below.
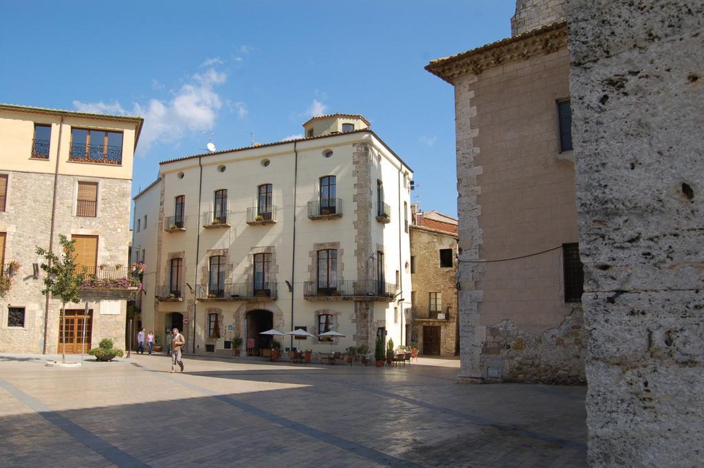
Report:
M 544 3 L 517 2 L 517 35 L 426 67 L 455 87 L 470 381 L 584 382 L 567 27 L 564 2 Z

